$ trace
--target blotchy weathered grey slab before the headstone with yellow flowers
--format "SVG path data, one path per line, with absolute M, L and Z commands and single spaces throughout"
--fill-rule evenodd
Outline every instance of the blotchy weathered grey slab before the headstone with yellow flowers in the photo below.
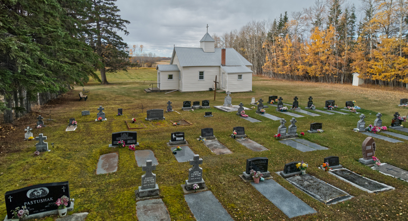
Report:
M 318 201 L 329 205 L 352 198 L 350 194 L 308 174 L 286 179 L 293 186 L 306 192 Z

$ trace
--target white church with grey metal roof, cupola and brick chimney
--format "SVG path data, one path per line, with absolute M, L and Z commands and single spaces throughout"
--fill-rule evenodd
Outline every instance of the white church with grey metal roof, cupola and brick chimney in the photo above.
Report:
M 208 32 L 200 48 L 174 47 L 170 64 L 157 65 L 157 84 L 160 90 L 230 92 L 252 91 L 252 64 L 235 49 L 215 48 Z

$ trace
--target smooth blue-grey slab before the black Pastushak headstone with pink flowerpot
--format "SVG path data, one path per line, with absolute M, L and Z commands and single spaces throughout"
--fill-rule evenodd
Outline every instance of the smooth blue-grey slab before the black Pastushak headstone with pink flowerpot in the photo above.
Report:
M 251 182 L 262 195 L 271 201 L 279 210 L 290 218 L 315 213 L 316 210 L 297 198 L 273 179 L 266 179 L 259 183 Z

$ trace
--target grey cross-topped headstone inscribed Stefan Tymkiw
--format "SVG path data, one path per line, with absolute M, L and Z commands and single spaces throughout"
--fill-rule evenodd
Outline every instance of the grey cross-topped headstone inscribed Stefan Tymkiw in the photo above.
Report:
M 156 165 L 152 164 L 151 160 L 146 160 L 146 166 L 142 166 L 142 171 L 146 173 L 142 175 L 142 186 L 139 186 L 138 196 L 151 197 L 159 195 L 159 186 L 156 184 L 156 175 L 152 172 L 156 170 Z

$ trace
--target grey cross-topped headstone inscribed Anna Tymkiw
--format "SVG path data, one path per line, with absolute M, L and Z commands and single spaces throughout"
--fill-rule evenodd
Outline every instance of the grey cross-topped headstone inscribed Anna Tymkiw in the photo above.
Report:
M 203 169 L 199 166 L 200 164 L 203 164 L 203 159 L 200 158 L 200 155 L 195 154 L 194 158 L 190 160 L 190 165 L 193 165 L 193 167 L 188 169 L 188 180 L 186 180 L 184 186 L 186 190 L 194 190 L 194 184 L 199 186 L 198 189 L 206 188 L 204 179 L 202 178 Z

